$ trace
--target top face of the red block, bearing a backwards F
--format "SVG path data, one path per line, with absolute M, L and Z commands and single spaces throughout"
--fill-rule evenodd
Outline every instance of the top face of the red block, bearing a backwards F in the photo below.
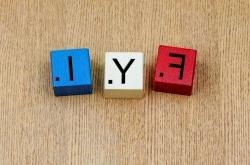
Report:
M 155 66 L 155 81 L 192 86 L 196 50 L 160 46 Z

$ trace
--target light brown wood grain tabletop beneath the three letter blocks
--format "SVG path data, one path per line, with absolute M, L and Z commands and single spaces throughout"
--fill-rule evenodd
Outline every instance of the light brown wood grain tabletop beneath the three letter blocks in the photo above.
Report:
M 160 44 L 197 49 L 191 97 L 152 90 Z M 94 94 L 54 97 L 82 47 Z M 143 99 L 103 98 L 106 51 L 145 53 Z M 250 164 L 249 51 L 249 0 L 0 0 L 0 164 Z

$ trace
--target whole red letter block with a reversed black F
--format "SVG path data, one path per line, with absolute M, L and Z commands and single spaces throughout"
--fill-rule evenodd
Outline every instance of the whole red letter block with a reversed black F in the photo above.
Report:
M 192 49 L 160 46 L 154 73 L 154 89 L 190 96 L 196 53 L 197 51 Z

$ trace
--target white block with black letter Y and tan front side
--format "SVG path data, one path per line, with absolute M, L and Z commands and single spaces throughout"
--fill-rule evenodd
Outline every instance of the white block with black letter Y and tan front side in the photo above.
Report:
M 104 97 L 142 98 L 144 55 L 141 52 L 105 54 Z

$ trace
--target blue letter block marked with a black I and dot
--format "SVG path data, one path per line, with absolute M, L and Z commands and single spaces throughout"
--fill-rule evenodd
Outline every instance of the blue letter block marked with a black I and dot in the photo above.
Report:
M 53 50 L 50 58 L 56 96 L 92 93 L 89 49 Z

